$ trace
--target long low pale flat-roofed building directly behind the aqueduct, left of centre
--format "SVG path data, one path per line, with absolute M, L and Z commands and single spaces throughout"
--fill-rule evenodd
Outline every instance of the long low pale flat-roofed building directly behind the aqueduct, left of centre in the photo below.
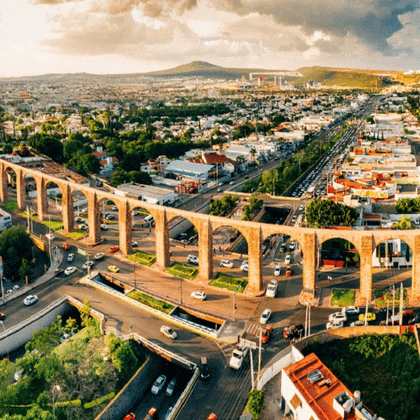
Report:
M 174 191 L 144 184 L 122 184 L 114 190 L 114 193 L 119 196 L 135 198 L 136 200 L 161 206 L 172 204 L 178 198 L 178 194 Z

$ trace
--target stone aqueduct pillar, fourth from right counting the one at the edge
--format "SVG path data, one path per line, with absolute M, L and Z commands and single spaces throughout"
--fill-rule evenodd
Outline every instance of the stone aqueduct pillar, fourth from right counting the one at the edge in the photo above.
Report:
M 263 289 L 262 273 L 262 237 L 261 228 L 248 228 L 248 293 L 259 293 Z

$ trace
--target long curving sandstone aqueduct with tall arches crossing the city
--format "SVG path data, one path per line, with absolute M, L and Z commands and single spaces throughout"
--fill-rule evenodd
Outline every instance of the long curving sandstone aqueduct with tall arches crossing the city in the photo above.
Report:
M 343 238 L 350 241 L 359 252 L 360 292 L 362 297 L 369 298 L 372 291 L 373 250 L 380 242 L 387 239 L 399 238 L 403 240 L 413 253 L 411 297 L 417 298 L 420 296 L 420 232 L 418 230 L 328 230 L 231 220 L 119 197 L 0 160 L 0 201 L 3 203 L 7 201 L 7 171 L 9 170 L 16 174 L 16 196 L 19 209 L 26 207 L 25 178 L 27 175 L 32 175 L 34 178 L 37 186 L 37 212 L 41 221 L 46 218 L 47 185 L 52 182 L 60 187 L 64 232 L 74 230 L 73 193 L 81 191 L 88 200 L 89 241 L 92 244 L 98 243 L 101 239 L 99 203 L 102 199 L 112 200 L 118 207 L 119 246 L 125 255 L 132 252 L 131 212 L 136 207 L 147 209 L 156 222 L 156 264 L 161 270 L 164 270 L 170 264 L 168 222 L 173 217 L 182 216 L 188 219 L 198 232 L 198 257 L 200 261 L 198 277 L 202 281 L 208 281 L 213 277 L 213 232 L 221 226 L 228 225 L 238 229 L 248 242 L 249 282 L 247 291 L 249 293 L 257 294 L 263 289 L 261 249 L 264 238 L 273 234 L 286 234 L 298 241 L 303 252 L 302 296 L 304 298 L 314 296 L 317 249 L 324 241 L 332 238 Z

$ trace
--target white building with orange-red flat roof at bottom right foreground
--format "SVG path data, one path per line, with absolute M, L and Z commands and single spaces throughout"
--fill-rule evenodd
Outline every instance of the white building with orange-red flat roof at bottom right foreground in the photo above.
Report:
M 299 420 L 383 420 L 311 353 L 281 373 L 281 405 Z

